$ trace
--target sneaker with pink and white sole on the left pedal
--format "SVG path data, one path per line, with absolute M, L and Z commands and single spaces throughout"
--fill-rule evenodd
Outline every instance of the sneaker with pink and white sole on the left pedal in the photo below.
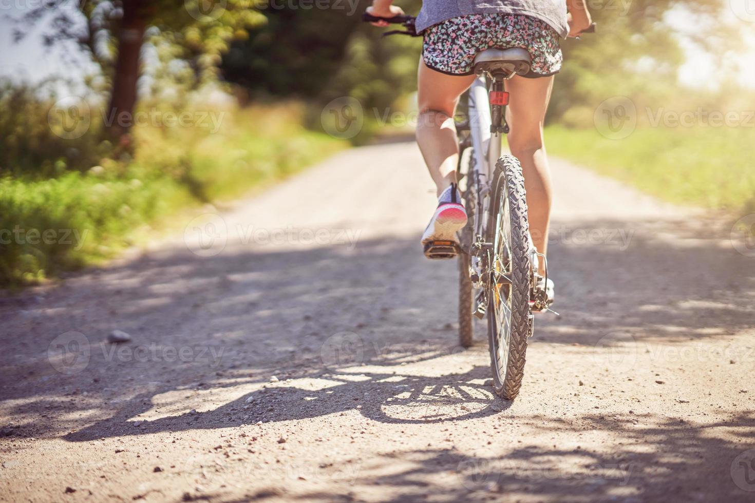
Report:
M 467 211 L 461 204 L 461 194 L 451 183 L 438 198 L 438 207 L 422 235 L 422 247 L 428 259 L 452 259 L 458 254 L 456 232 L 467 225 Z

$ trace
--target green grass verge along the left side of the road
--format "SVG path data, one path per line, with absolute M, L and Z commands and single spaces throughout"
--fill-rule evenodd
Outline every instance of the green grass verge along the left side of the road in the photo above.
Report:
M 217 133 L 137 127 L 134 158 L 53 178 L 0 178 L 0 287 L 99 263 L 145 229 L 200 204 L 239 197 L 346 143 L 301 127 L 300 109 L 227 112 Z M 32 170 L 33 171 L 33 170 Z

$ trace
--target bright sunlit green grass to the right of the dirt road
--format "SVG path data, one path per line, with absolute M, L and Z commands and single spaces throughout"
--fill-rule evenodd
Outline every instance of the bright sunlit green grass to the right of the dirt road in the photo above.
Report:
M 595 129 L 547 127 L 550 155 L 676 204 L 747 212 L 755 209 L 753 127 L 638 127 L 623 140 Z

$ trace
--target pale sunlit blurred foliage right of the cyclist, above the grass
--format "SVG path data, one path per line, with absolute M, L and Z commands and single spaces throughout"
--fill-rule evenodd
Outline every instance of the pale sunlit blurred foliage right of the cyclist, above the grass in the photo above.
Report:
M 729 2 L 719 0 L 587 3 L 597 32 L 580 40 L 562 41 L 564 65 L 553 87 L 548 110 L 551 124 L 565 117 L 574 121 L 575 112 L 567 113 L 570 109 L 594 110 L 603 100 L 615 96 L 653 106 L 678 102 L 677 71 L 685 55 L 680 32 L 671 26 L 671 18 L 687 19 L 694 32 L 686 35 L 701 51 L 716 54 L 721 60 L 725 54 L 741 51 L 741 36 L 747 25 L 727 20 Z M 726 96 L 722 90 L 716 98 Z

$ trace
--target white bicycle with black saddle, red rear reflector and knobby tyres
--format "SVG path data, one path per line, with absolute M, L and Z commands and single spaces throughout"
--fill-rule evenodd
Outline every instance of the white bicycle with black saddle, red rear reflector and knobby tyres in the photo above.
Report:
M 419 36 L 411 16 L 365 13 L 362 19 L 405 27 L 384 36 Z M 593 23 L 585 32 L 594 29 Z M 458 257 L 459 341 L 465 348 L 473 345 L 474 317 L 487 318 L 493 388 L 506 400 L 513 400 L 522 386 L 534 313 L 552 311 L 545 291 L 547 262 L 529 234 L 522 167 L 513 155 L 501 155 L 502 135 L 509 132 L 504 81 L 529 72 L 530 64 L 530 54 L 522 48 L 490 48 L 476 55 L 477 78 L 461 99 L 467 118 L 456 121 L 457 179 L 464 182 L 467 226 L 459 233 L 459 244 L 434 241 L 425 248 L 431 259 Z M 538 270 L 538 257 L 543 271 Z

